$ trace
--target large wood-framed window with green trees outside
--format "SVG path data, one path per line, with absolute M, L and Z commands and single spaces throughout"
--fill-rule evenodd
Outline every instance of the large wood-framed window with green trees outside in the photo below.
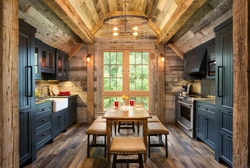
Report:
M 149 54 L 145 51 L 104 51 L 103 109 L 127 95 L 149 108 Z

